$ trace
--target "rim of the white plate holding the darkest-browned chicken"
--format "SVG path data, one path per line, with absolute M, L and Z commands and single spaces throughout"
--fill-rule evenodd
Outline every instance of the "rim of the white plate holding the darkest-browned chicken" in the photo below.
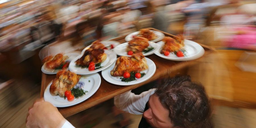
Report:
M 114 57 L 113 57 L 113 58 L 110 58 L 110 60 L 117 58 L 117 55 L 116 55 L 113 51 L 111 51 L 111 50 L 104 50 L 104 53 L 105 53 L 105 51 L 108 51 L 108 52 L 109 52 L 109 53 L 106 53 L 107 56 L 108 56 L 108 54 L 113 53 Z M 82 54 L 80 54 L 80 55 L 82 55 Z M 73 63 L 73 61 L 75 61 L 75 60 L 77 60 L 78 58 L 80 58 L 80 55 L 77 56 L 75 59 L 73 59 L 70 63 Z M 109 56 L 108 56 L 108 57 L 109 57 Z M 102 71 L 102 70 L 104 70 L 104 69 L 110 67 L 114 62 L 115 62 L 115 61 L 113 61 L 112 63 L 110 63 L 110 65 L 108 65 L 108 66 L 104 66 L 104 67 L 102 67 L 102 68 L 100 68 L 100 69 L 96 69 L 96 70 L 92 71 L 91 73 L 90 73 L 90 72 L 89 72 L 89 73 L 77 73 L 76 71 L 74 71 L 74 70 L 71 68 L 71 65 L 69 64 L 69 71 L 71 71 L 71 72 L 73 72 L 73 73 L 76 73 L 76 74 L 78 74 L 78 75 L 89 75 L 89 74 L 93 74 L 93 73 L 98 73 L 98 72 L 100 72 L 100 71 Z M 75 63 L 75 62 L 74 62 L 74 63 Z M 96 72 L 95 72 L 95 71 L 96 71 Z

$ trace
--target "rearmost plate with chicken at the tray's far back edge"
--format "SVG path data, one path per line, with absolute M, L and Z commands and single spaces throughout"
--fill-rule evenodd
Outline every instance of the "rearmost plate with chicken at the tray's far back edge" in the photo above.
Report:
M 129 42 L 133 40 L 134 37 L 143 37 L 151 42 L 159 42 L 164 38 L 164 34 L 159 31 L 150 30 L 147 28 L 141 29 L 138 32 L 133 32 L 125 37 L 125 41 Z

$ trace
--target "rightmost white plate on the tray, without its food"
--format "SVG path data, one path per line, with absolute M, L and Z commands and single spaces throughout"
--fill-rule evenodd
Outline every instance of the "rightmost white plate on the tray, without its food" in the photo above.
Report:
M 162 48 L 162 45 L 163 45 L 162 41 L 158 42 L 157 44 L 159 44 Z M 185 46 L 183 48 L 186 50 L 184 57 L 177 57 L 174 54 L 174 52 L 170 53 L 168 56 L 165 56 L 160 53 L 161 48 L 156 50 L 155 54 L 164 59 L 169 59 L 174 61 L 189 61 L 189 60 L 197 59 L 203 56 L 205 53 L 205 49 L 199 44 L 197 44 L 196 42 L 193 42 L 191 40 L 184 40 L 184 44 Z

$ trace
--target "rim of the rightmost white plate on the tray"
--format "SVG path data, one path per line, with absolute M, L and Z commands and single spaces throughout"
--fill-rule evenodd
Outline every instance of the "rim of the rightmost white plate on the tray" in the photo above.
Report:
M 200 58 L 204 55 L 205 49 L 200 44 L 198 44 L 197 42 L 191 41 L 191 40 L 186 40 L 185 39 L 185 41 L 187 41 L 187 43 L 191 43 L 191 44 L 195 44 L 197 46 L 200 46 L 200 51 L 197 52 L 196 54 L 190 56 L 190 57 L 170 58 L 170 57 L 166 57 L 166 56 L 162 55 L 159 52 L 160 48 L 162 47 L 160 45 L 160 43 L 162 43 L 162 41 L 160 41 L 160 42 L 157 42 L 157 44 L 160 45 L 160 48 L 157 51 L 155 51 L 154 54 L 156 54 L 157 56 L 159 56 L 161 58 L 168 59 L 168 60 L 173 60 L 173 61 L 190 61 L 190 60 L 198 59 L 198 58 Z

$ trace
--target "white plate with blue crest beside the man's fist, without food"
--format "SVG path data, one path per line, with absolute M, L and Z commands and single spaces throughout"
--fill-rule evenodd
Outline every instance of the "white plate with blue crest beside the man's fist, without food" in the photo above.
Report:
M 84 96 L 77 99 L 75 98 L 75 100 L 71 102 L 69 102 L 67 98 L 64 99 L 64 98 L 61 98 L 60 96 L 52 96 L 49 91 L 51 83 L 52 81 L 48 84 L 48 86 L 44 91 L 44 100 L 50 102 L 55 107 L 68 107 L 75 104 L 79 104 L 84 100 L 90 98 L 99 89 L 101 79 L 100 79 L 99 73 L 82 75 L 78 84 L 75 87 L 77 87 L 79 84 L 84 85 L 82 89 L 88 92 L 86 92 Z

